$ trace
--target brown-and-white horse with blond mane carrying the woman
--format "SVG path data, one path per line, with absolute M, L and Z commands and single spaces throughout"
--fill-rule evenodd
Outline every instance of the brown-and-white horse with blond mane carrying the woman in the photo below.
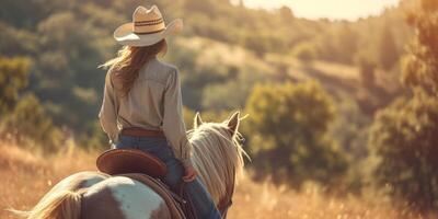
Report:
M 215 204 L 226 205 L 226 208 L 231 205 L 234 185 L 243 173 L 243 159 L 247 157 L 238 130 L 239 116 L 237 112 L 222 123 L 204 123 L 197 113 L 194 128 L 187 131 L 198 177 Z M 163 198 L 146 184 L 94 171 L 79 172 L 61 180 L 32 210 L 14 212 L 27 219 L 171 218 Z

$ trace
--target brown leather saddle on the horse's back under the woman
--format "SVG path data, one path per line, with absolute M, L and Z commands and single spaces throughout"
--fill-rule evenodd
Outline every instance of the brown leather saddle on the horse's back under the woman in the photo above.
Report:
M 103 173 L 126 176 L 153 189 L 166 203 L 172 219 L 197 219 L 184 184 L 176 195 L 160 180 L 168 170 L 154 155 L 137 149 L 111 149 L 97 157 L 96 166 Z

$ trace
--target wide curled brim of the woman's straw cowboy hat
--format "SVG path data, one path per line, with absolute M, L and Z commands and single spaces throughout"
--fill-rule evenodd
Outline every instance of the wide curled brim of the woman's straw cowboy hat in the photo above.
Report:
M 126 23 L 114 31 L 114 38 L 124 46 L 150 46 L 182 30 L 183 21 L 181 19 L 172 21 L 163 31 L 152 34 L 136 34 L 132 32 L 132 23 Z

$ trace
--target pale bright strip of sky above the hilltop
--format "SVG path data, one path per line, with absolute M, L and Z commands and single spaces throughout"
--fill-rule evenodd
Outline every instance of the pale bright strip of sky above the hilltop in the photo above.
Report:
M 384 8 L 396 5 L 399 0 L 243 0 L 243 3 L 249 8 L 264 9 L 287 5 L 299 18 L 355 21 L 380 14 Z

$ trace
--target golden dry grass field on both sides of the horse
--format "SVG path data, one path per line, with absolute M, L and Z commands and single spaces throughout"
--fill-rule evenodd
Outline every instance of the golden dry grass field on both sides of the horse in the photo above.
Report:
M 67 150 L 44 157 L 13 143 L 0 143 L 0 218 L 14 218 L 7 208 L 28 209 L 54 184 L 71 173 L 95 170 L 95 152 Z M 309 189 L 302 193 L 286 186 L 255 183 L 247 177 L 240 181 L 229 218 L 334 218 L 387 219 L 422 218 L 384 201 L 357 198 L 331 198 Z M 424 217 L 423 217 L 424 218 Z M 430 217 L 431 218 L 431 217 Z

